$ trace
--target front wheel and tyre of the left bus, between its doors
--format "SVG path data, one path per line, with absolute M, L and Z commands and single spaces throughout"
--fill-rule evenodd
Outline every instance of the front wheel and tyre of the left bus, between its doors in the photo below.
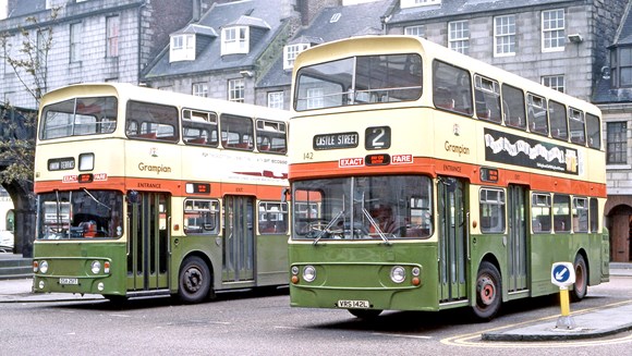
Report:
M 184 260 L 178 278 L 178 297 L 181 302 L 199 303 L 209 294 L 210 271 L 199 257 L 189 257 Z

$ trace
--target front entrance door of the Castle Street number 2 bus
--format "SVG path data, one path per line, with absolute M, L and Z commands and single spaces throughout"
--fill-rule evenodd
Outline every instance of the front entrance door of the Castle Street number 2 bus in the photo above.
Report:
M 438 182 L 439 299 L 443 303 L 467 297 L 467 221 L 464 183 L 449 176 Z

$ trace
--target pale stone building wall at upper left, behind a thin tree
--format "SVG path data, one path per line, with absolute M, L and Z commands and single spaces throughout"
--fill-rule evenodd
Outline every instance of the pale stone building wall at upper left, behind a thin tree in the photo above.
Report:
M 169 41 L 169 34 L 208 8 L 208 1 L 202 0 L 179 1 L 178 7 L 156 0 L 11 0 L 8 17 L 0 20 L 0 33 L 9 34 L 0 49 L 2 57 L 27 59 L 20 50 L 29 41 L 39 51 L 46 73 L 38 74 L 38 85 L 3 61 L 0 100 L 36 108 L 24 85 L 46 93 L 86 82 L 138 84 L 141 71 Z M 45 51 L 48 32 L 51 46 Z

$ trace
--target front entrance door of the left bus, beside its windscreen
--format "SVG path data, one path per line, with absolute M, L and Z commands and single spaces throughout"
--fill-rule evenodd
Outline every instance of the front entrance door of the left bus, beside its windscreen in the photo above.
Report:
M 127 290 L 169 287 L 169 196 L 163 193 L 132 193 L 127 242 Z

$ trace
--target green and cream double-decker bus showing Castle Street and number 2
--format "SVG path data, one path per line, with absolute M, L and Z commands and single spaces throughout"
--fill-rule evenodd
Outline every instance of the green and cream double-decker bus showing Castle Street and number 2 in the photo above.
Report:
M 424 39 L 367 36 L 294 63 L 294 307 L 471 307 L 608 281 L 600 112 Z

